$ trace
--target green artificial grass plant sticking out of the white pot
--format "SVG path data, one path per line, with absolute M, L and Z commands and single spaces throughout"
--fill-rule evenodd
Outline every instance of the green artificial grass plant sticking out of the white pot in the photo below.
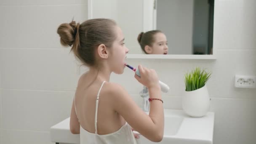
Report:
M 195 91 L 196 89 L 202 88 L 210 77 L 210 72 L 206 72 L 205 69 L 201 70 L 199 67 L 196 67 L 192 72 L 185 74 L 186 91 Z

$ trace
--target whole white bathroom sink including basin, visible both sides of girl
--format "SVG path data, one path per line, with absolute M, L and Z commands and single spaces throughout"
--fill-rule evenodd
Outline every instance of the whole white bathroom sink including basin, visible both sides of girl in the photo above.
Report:
M 204 117 L 189 117 L 182 110 L 164 109 L 165 127 L 163 140 L 158 144 L 212 144 L 214 113 Z M 69 118 L 51 127 L 51 141 L 80 144 L 79 134 L 69 131 Z M 138 133 L 138 132 L 134 132 Z M 136 139 L 138 144 L 155 144 L 144 136 Z

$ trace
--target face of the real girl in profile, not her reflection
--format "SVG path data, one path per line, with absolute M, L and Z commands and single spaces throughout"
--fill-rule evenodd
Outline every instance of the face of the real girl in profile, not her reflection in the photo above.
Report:
M 122 74 L 125 68 L 126 53 L 129 52 L 129 49 L 125 46 L 125 38 L 121 28 L 116 26 L 114 30 L 116 39 L 109 53 L 109 66 L 116 74 Z

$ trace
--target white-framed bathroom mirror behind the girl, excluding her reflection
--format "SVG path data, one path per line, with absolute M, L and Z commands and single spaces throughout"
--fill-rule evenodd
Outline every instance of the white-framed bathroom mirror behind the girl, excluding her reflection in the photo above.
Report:
M 214 0 L 88 0 L 88 19 L 114 19 L 125 35 L 128 58 L 215 59 Z M 140 32 L 159 29 L 168 54 L 144 54 Z

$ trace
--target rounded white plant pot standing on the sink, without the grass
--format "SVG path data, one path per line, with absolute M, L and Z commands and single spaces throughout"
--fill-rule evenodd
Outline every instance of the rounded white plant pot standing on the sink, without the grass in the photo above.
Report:
M 209 110 L 210 97 L 206 85 L 195 91 L 184 91 L 182 108 L 192 117 L 203 117 Z

